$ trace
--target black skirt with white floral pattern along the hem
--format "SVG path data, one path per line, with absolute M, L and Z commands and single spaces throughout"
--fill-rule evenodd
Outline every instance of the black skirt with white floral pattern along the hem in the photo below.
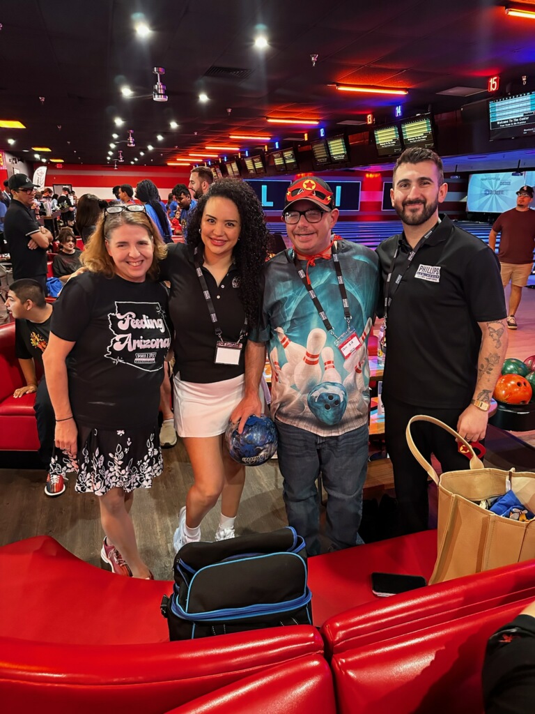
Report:
M 158 425 L 139 429 L 101 429 L 78 425 L 78 454 L 72 459 L 54 448 L 51 475 L 76 471 L 76 491 L 103 496 L 110 488 L 126 493 L 151 488 L 163 471 Z

